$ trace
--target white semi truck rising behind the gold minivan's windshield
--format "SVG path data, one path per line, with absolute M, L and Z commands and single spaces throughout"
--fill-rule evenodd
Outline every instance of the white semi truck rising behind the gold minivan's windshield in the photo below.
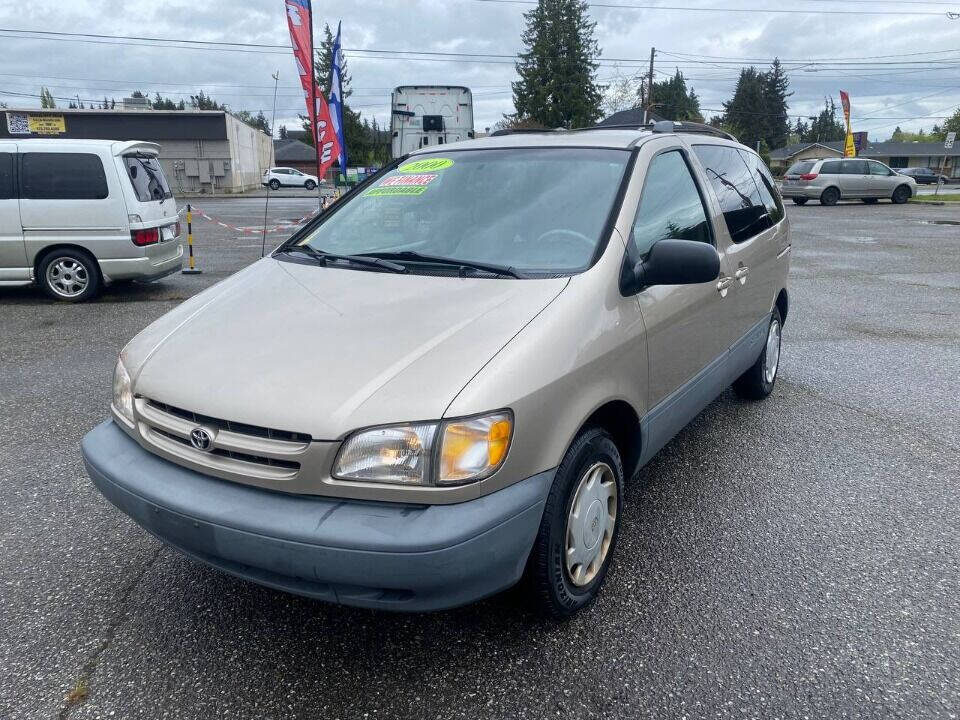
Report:
M 391 96 L 393 157 L 473 137 L 473 95 L 454 85 L 401 85 Z

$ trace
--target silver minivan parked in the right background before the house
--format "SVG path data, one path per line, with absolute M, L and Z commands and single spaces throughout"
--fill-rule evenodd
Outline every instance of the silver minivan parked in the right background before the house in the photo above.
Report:
M 783 197 L 797 205 L 819 200 L 821 205 L 836 205 L 840 200 L 875 203 L 886 198 L 907 202 L 916 192 L 917 181 L 901 175 L 877 160 L 836 158 L 801 160 L 784 175 Z

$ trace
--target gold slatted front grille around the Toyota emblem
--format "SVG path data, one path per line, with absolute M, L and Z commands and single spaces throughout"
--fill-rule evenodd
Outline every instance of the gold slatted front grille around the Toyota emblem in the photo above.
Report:
M 139 435 L 158 454 L 219 477 L 283 485 L 297 479 L 311 447 L 306 433 L 221 420 L 149 398 L 134 405 Z M 211 435 L 207 450 L 190 442 L 198 427 Z

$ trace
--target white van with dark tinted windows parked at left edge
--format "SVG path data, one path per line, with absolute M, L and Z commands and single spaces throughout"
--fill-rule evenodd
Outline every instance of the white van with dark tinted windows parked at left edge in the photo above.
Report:
M 80 302 L 180 269 L 177 205 L 154 143 L 0 140 L 0 287 Z

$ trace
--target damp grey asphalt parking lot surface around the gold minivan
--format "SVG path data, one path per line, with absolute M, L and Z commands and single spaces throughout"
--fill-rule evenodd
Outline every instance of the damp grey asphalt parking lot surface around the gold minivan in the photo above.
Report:
M 262 199 L 195 205 L 262 224 Z M 78 444 L 118 351 L 258 234 L 198 220 L 202 275 L 85 305 L 0 290 L 0 717 L 956 718 L 960 207 L 788 213 L 774 395 L 726 393 L 633 479 L 606 588 L 560 625 L 515 593 L 422 616 L 284 595 L 94 489 Z

